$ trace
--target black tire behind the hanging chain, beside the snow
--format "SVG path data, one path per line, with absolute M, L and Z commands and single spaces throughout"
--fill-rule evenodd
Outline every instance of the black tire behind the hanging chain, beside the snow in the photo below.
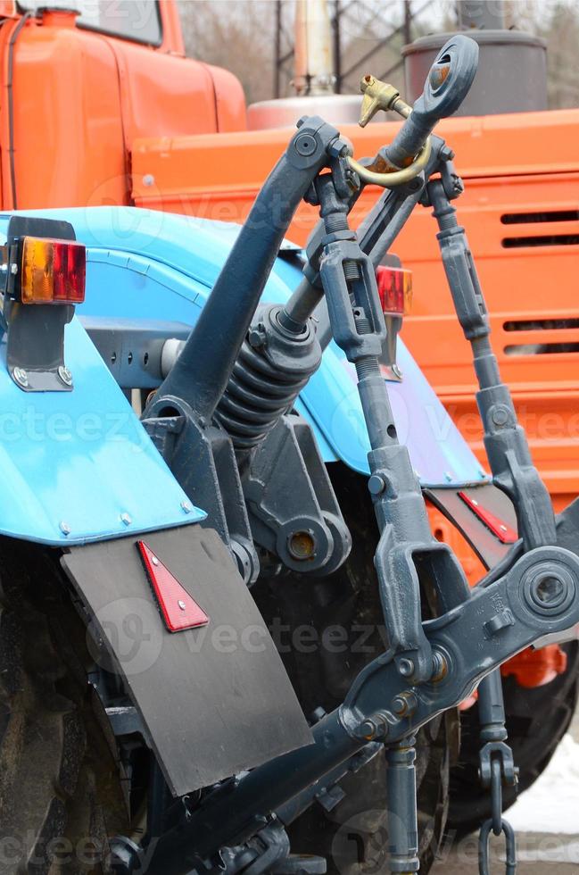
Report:
M 508 743 L 519 768 L 518 786 L 503 788 L 505 811 L 547 768 L 573 719 L 579 692 L 579 644 L 574 641 L 562 647 L 567 653 L 567 669 L 549 684 L 528 689 L 513 677 L 502 681 Z M 448 829 L 455 839 L 479 829 L 491 816 L 490 796 L 478 779 L 480 746 L 475 704 L 461 714 L 459 761 L 451 769 Z

